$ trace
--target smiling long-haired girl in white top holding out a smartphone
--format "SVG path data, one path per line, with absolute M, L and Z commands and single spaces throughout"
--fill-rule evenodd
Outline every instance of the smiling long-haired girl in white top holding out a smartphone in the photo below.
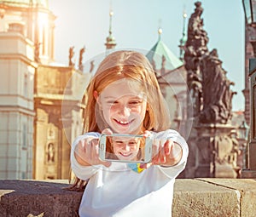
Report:
M 174 180 L 189 151 L 183 137 L 169 129 L 166 104 L 148 59 L 134 51 L 109 54 L 90 81 L 87 96 L 85 132 L 74 140 L 71 152 L 74 174 L 88 180 L 79 215 L 172 216 Z M 152 161 L 136 164 L 138 168 L 101 161 L 98 139 L 113 133 L 153 138 Z

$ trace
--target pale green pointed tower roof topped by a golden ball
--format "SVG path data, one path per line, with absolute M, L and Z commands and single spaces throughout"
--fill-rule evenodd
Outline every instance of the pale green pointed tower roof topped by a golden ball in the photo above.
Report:
M 148 60 L 155 66 L 155 69 L 160 69 L 162 67 L 163 59 L 166 60 L 165 68 L 166 70 L 174 70 L 179 66 L 183 66 L 183 62 L 172 53 L 166 44 L 161 40 L 160 35 L 162 31 L 159 29 L 159 39 L 158 42 L 154 44 L 154 47 L 150 49 L 147 54 Z

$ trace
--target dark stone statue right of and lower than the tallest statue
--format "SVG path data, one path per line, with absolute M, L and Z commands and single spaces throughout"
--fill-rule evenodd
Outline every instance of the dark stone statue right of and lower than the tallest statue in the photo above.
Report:
M 218 59 L 217 49 L 212 49 L 201 62 L 203 110 L 201 123 L 227 123 L 231 117 L 232 97 L 230 90 L 234 83 L 226 77 L 222 61 Z

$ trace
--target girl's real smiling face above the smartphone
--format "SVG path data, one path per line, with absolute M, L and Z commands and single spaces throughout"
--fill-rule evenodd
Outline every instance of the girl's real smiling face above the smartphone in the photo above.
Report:
M 99 96 L 96 93 L 96 100 L 113 132 L 141 133 L 147 99 L 139 83 L 125 78 L 110 83 Z

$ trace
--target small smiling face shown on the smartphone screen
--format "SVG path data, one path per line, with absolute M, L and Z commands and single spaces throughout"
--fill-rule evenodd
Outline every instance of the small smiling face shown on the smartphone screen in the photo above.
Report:
M 140 140 L 138 138 L 114 137 L 111 143 L 113 153 L 119 160 L 138 160 L 137 155 L 140 147 Z

